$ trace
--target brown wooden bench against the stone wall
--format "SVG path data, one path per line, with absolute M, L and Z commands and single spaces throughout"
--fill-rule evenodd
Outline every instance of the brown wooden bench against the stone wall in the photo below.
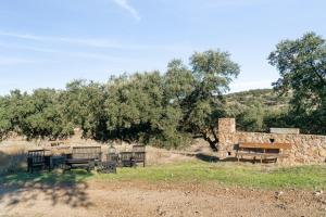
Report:
M 289 143 L 243 142 L 239 143 L 236 157 L 238 162 L 240 158 L 242 159 L 243 156 L 252 156 L 253 161 L 258 157 L 261 163 L 268 158 L 277 161 L 277 158 L 288 157 L 288 154 L 283 151 L 289 149 L 291 149 L 291 144 Z

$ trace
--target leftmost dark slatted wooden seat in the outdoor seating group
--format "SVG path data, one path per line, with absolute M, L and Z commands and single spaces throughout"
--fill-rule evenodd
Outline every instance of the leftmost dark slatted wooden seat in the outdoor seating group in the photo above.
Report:
M 27 152 L 27 171 L 34 173 L 35 168 L 43 169 L 46 166 L 46 150 L 30 150 Z

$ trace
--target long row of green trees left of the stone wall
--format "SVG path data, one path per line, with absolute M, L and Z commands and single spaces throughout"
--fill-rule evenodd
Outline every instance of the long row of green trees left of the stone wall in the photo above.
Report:
M 78 127 L 85 138 L 165 148 L 189 143 L 200 135 L 216 149 L 223 93 L 238 74 L 229 53 L 209 50 L 195 53 L 189 66 L 172 60 L 165 74 L 122 75 L 105 84 L 74 80 L 62 91 L 15 90 L 0 98 L 0 133 L 58 138 Z

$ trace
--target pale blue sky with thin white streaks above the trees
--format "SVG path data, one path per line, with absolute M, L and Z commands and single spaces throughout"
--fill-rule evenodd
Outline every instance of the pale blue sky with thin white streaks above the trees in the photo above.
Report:
M 231 91 L 278 78 L 268 53 L 306 31 L 326 37 L 325 0 L 0 0 L 0 94 L 74 78 L 160 69 L 193 51 L 231 53 Z

